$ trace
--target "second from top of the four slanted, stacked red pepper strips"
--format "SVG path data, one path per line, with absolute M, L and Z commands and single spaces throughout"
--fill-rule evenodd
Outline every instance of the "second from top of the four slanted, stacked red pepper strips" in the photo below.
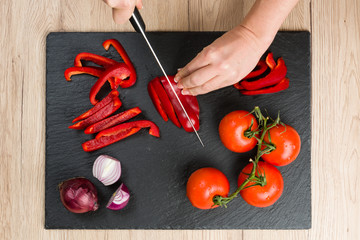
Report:
M 105 105 L 99 111 L 95 112 L 90 117 L 69 126 L 69 128 L 84 129 L 84 128 L 110 116 L 112 113 L 114 113 L 116 110 L 118 110 L 121 107 L 121 104 L 122 103 L 121 103 L 120 99 L 118 97 L 115 97 L 115 98 L 113 98 L 113 101 L 111 101 L 109 104 Z

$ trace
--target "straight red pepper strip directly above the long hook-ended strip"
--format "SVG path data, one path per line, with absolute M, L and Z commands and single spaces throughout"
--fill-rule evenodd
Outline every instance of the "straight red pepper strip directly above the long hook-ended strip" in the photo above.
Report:
M 141 110 L 138 107 L 126 110 L 126 111 L 116 114 L 114 116 L 105 118 L 105 119 L 101 120 L 100 122 L 94 123 L 93 125 L 91 125 L 85 129 L 85 133 L 91 134 L 91 133 L 100 132 L 104 129 L 115 126 L 116 124 L 123 123 L 123 122 L 135 117 L 136 115 L 138 115 L 140 113 L 141 113 Z

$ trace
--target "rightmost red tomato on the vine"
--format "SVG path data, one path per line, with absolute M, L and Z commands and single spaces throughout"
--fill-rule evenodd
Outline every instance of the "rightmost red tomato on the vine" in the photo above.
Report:
M 300 153 L 301 140 L 296 130 L 288 125 L 278 125 L 269 130 L 271 142 L 276 149 L 262 155 L 262 159 L 275 166 L 285 166 L 294 161 Z M 264 141 L 269 143 L 269 134 Z

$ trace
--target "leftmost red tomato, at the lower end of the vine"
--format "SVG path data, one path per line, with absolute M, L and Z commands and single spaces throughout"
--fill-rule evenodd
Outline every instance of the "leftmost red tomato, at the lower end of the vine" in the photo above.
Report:
M 216 208 L 213 198 L 217 195 L 227 197 L 230 184 L 226 176 L 216 168 L 200 168 L 193 172 L 186 185 L 186 195 L 194 207 L 200 209 Z

